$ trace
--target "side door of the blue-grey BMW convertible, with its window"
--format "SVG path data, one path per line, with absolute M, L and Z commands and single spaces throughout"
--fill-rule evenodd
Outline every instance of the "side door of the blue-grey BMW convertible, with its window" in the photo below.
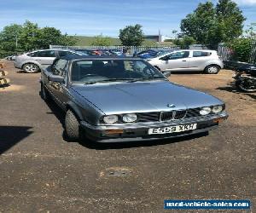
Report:
M 55 101 L 57 101 L 62 108 L 65 107 L 67 102 L 67 65 L 67 60 L 55 60 L 54 65 L 51 67 L 51 74 L 55 77 L 64 78 L 64 82 L 49 81 L 49 88 L 55 96 Z

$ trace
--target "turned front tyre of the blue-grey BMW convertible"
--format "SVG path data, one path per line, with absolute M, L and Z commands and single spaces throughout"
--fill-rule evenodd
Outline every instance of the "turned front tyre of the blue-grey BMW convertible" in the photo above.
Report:
M 65 117 L 65 130 L 67 139 L 71 141 L 79 141 L 80 139 L 80 124 L 79 119 L 71 110 L 67 110 Z

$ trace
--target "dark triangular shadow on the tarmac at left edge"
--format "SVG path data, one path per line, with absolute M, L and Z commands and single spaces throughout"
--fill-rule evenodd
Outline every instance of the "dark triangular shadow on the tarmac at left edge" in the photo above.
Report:
M 32 134 L 29 126 L 0 126 L 0 154 Z

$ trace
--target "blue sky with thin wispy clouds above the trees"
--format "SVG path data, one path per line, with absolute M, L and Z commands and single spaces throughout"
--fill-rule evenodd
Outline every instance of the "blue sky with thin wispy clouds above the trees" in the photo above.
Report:
M 217 0 L 212 0 L 216 3 Z M 69 35 L 118 37 L 119 29 L 140 24 L 145 34 L 171 36 L 180 21 L 205 0 L 0 0 L 0 30 L 26 20 Z M 256 22 L 256 0 L 235 0 L 245 26 Z

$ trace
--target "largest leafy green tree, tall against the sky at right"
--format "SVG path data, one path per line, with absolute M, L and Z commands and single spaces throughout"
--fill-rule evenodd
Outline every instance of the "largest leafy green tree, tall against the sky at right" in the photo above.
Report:
M 183 35 L 194 37 L 197 43 L 216 47 L 241 36 L 243 21 L 246 20 L 237 4 L 231 0 L 199 3 L 197 9 L 181 21 Z

